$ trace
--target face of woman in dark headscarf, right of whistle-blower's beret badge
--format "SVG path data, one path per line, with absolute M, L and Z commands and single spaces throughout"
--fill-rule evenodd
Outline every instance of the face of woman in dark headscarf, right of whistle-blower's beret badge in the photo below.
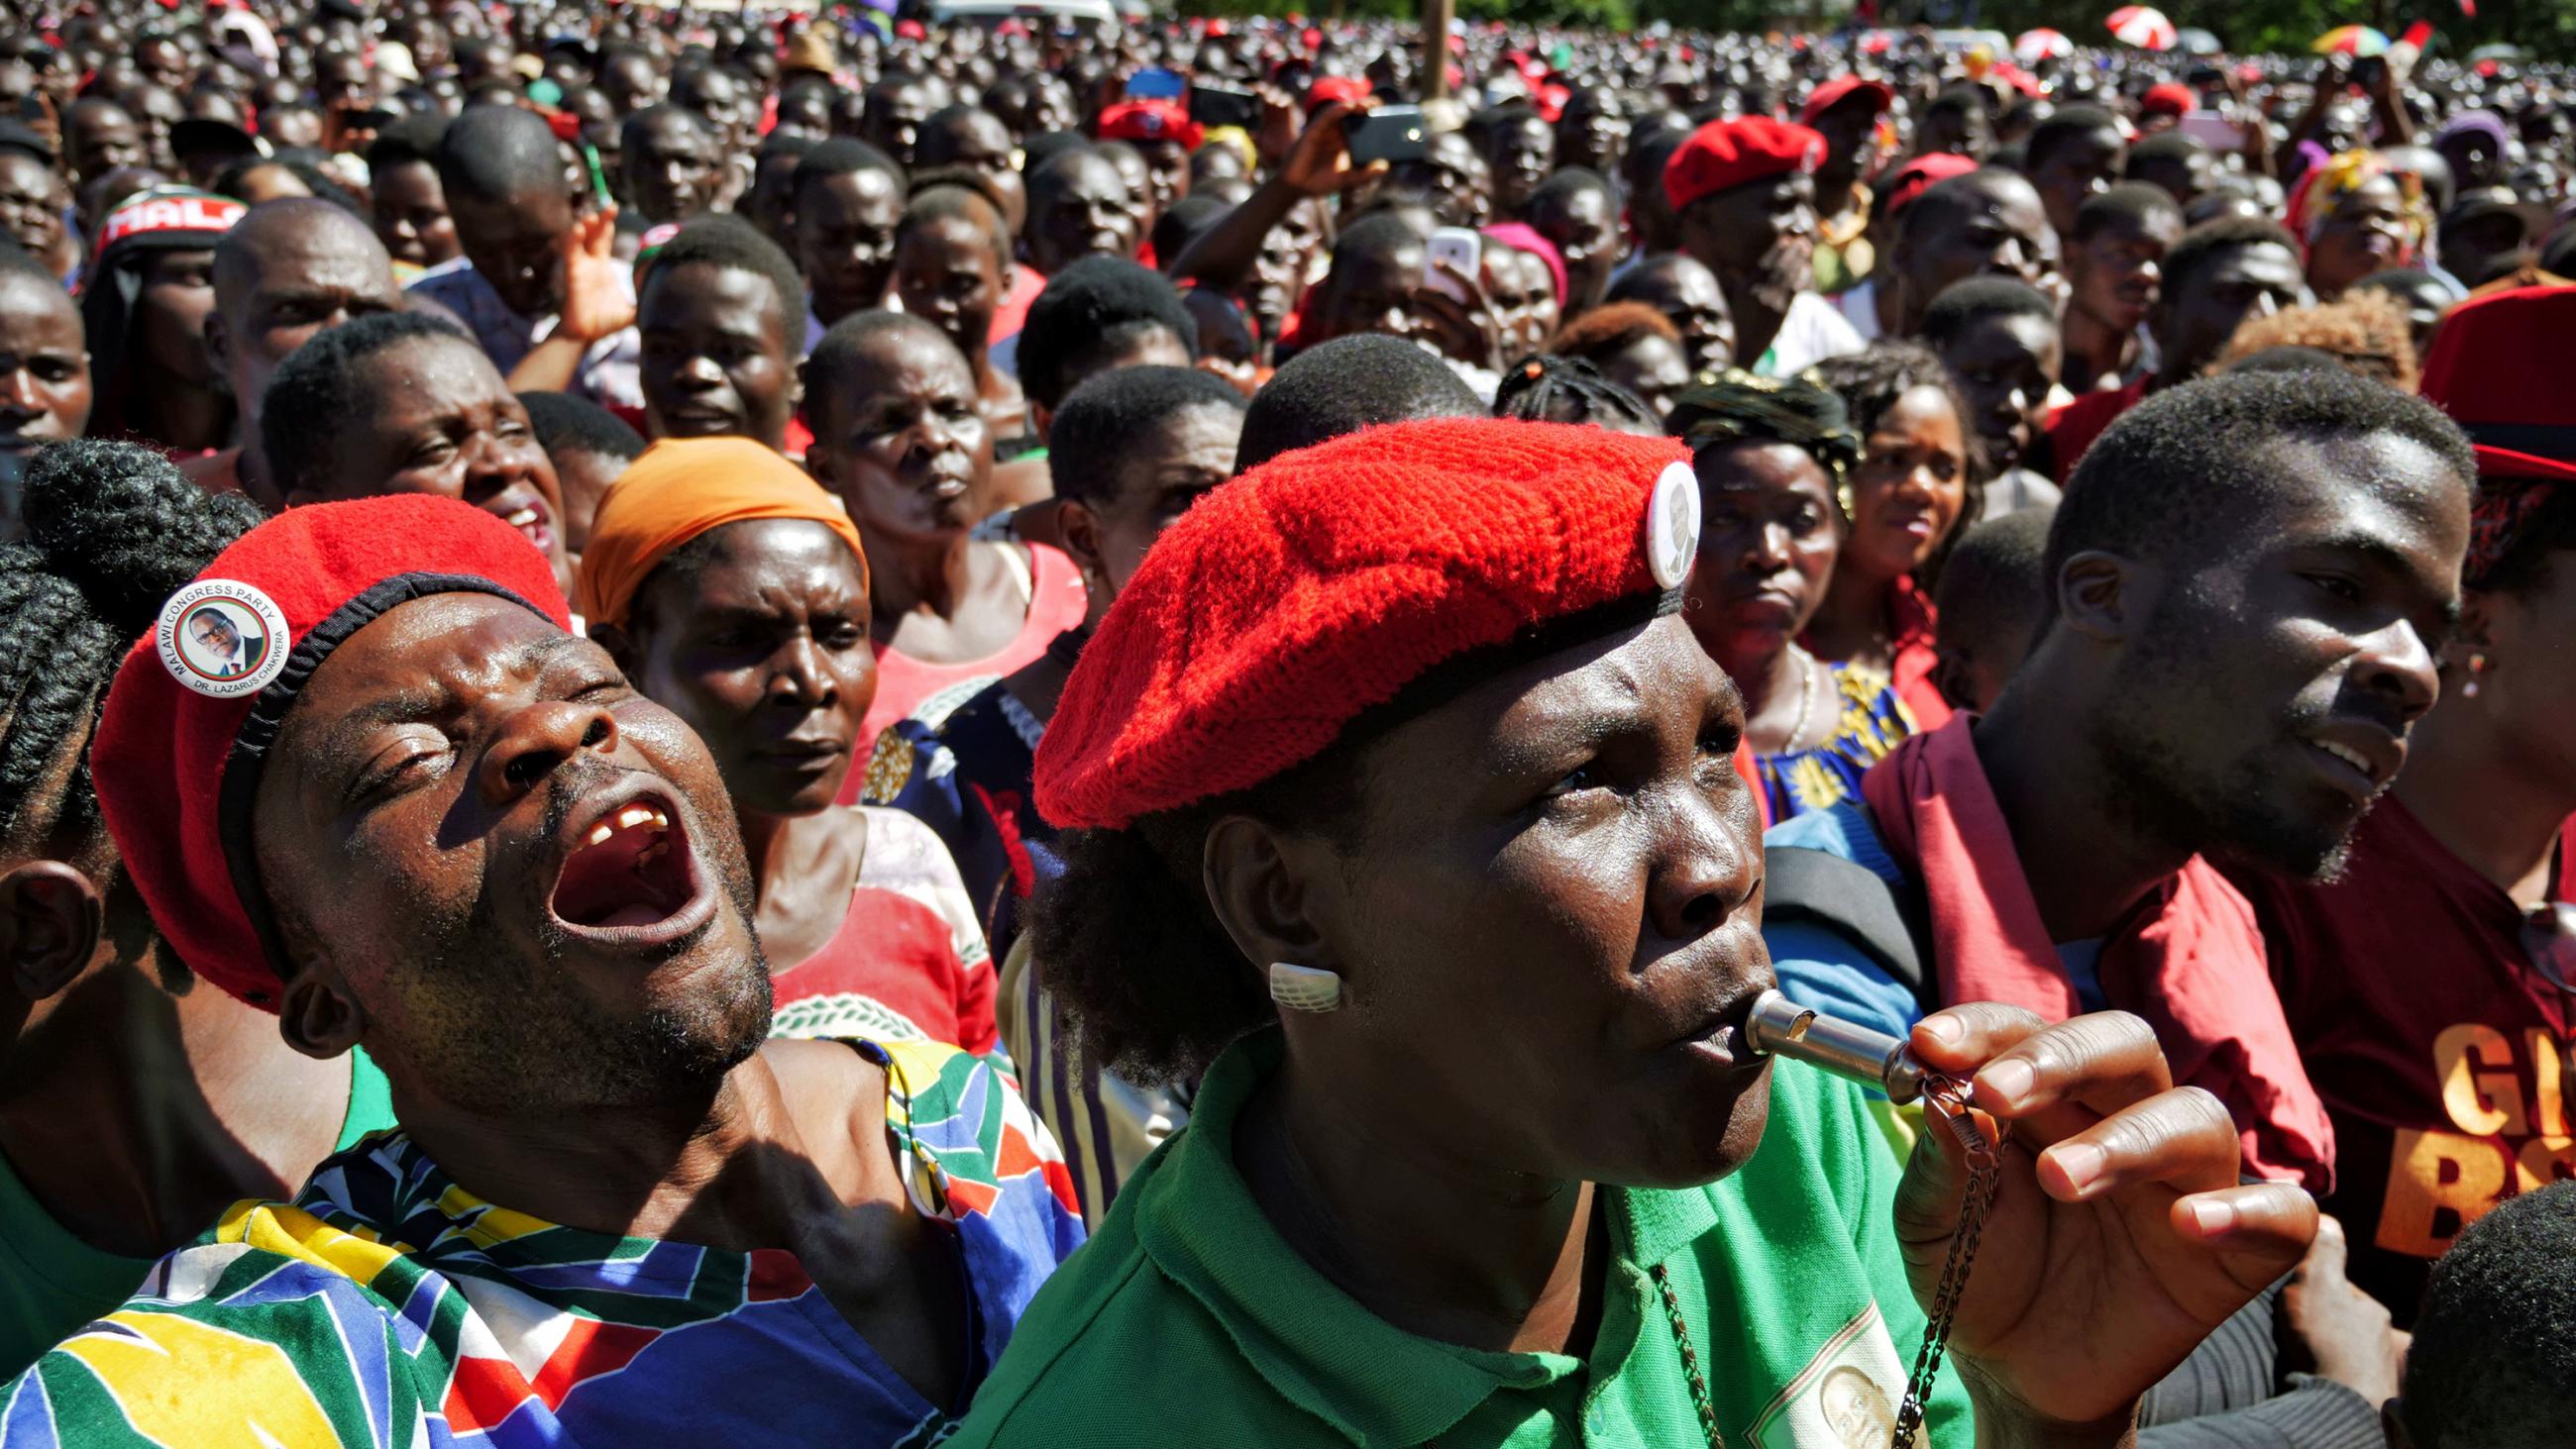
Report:
M 1685 618 L 1700 649 L 1754 677 L 1806 628 L 1834 577 L 1834 479 L 1788 443 L 1726 443 L 1692 461 L 1700 556 Z

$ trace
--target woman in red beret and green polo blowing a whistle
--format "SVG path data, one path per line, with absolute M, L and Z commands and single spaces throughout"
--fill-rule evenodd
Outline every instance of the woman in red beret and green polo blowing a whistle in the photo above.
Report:
M 2120 1444 L 2298 1261 L 2313 1202 L 2239 1186 L 2130 1017 L 1924 1019 L 2009 1135 L 1911 1161 L 1752 1050 L 1695 548 L 1677 443 L 1486 420 L 1288 453 L 1164 533 L 1038 752 L 1033 942 L 1084 1053 L 1198 1096 L 953 1446 Z

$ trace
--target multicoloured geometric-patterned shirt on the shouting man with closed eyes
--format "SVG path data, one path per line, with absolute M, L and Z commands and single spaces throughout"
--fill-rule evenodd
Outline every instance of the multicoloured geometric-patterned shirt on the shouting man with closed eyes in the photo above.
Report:
M 1010 1343 L 1082 1220 L 1046 1130 L 989 1063 L 853 1042 L 886 1068 L 914 1207 L 953 1230 L 966 1390 L 933 1405 L 796 1256 L 559 1228 L 482 1202 L 404 1132 L 240 1202 L 0 1403 L 10 1446 L 925 1446 Z

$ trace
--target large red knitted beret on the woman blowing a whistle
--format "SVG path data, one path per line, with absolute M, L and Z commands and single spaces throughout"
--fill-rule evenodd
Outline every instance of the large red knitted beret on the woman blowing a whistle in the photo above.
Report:
M 1038 744 L 1038 811 L 1113 829 L 1260 785 L 1448 659 L 1664 600 L 1698 510 L 1687 448 L 1600 427 L 1396 422 L 1283 453 L 1118 592 Z

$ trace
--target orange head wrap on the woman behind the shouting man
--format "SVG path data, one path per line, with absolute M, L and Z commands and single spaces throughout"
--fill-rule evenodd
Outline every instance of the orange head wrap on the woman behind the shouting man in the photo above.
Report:
M 574 607 L 590 623 L 623 628 L 662 558 L 701 533 L 757 517 L 806 517 L 829 528 L 850 546 L 866 587 L 868 553 L 858 525 L 796 463 L 750 438 L 665 438 L 600 497 L 572 589 Z

